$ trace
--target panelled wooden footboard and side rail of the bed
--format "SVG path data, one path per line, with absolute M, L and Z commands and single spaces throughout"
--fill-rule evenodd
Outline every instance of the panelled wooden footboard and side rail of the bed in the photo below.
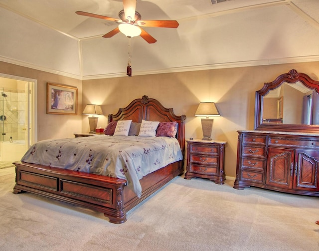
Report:
M 180 162 L 172 163 L 141 180 L 142 196 L 130 190 L 124 179 L 76 172 L 25 162 L 14 162 L 13 193 L 30 192 L 101 212 L 111 223 L 126 222 L 126 214 L 168 181 L 182 173 Z

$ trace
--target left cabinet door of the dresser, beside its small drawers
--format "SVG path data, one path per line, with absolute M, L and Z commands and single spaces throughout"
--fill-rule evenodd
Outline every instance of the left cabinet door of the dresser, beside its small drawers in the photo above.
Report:
M 293 149 L 268 148 L 267 185 L 292 188 L 294 154 Z

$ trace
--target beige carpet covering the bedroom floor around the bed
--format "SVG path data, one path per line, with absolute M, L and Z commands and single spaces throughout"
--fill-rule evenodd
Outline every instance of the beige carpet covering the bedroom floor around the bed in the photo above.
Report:
M 318 251 L 319 198 L 176 177 L 115 225 L 0 177 L 2 251 Z

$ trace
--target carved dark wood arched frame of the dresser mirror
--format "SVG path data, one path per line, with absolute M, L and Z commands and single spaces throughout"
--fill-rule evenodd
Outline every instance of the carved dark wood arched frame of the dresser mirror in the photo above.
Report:
M 278 76 L 272 82 L 264 83 L 264 87 L 259 91 L 256 91 L 254 123 L 255 130 L 319 133 L 319 125 L 297 125 L 263 122 L 263 97 L 267 95 L 269 91 L 276 89 L 285 82 L 293 84 L 299 81 L 308 88 L 316 90 L 319 93 L 319 81 L 311 79 L 305 73 L 298 73 L 295 69 Z

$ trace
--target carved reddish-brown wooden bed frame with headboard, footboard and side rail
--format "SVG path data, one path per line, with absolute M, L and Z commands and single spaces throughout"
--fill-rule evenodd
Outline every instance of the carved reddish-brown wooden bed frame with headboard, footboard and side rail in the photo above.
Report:
M 185 150 L 185 115 L 176 116 L 172 108 L 164 108 L 156 99 L 143 96 L 133 100 L 127 107 L 120 108 L 115 115 L 108 116 L 113 120 L 132 119 L 133 122 L 177 121 L 176 138 L 182 154 Z M 126 213 L 155 193 L 168 181 L 184 171 L 184 160 L 172 163 L 140 180 L 142 196 L 126 186 L 126 180 L 111 178 L 84 172 L 48 167 L 25 162 L 14 162 L 15 186 L 13 193 L 31 192 L 52 199 L 68 202 L 104 213 L 111 223 L 124 223 Z

